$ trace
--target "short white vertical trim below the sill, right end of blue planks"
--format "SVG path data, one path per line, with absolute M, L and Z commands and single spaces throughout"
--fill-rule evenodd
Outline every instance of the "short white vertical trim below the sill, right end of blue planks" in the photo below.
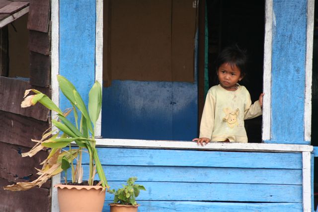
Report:
M 303 152 L 303 208 L 312 212 L 311 153 Z

